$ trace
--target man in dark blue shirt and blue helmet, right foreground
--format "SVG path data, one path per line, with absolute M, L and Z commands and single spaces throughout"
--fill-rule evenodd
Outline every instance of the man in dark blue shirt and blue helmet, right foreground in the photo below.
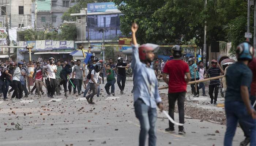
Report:
M 256 145 L 256 112 L 249 100 L 252 71 L 247 66 L 252 60 L 253 51 L 254 49 L 249 43 L 238 45 L 236 50 L 238 62 L 227 69 L 225 146 L 232 145 L 238 121 L 249 127 L 251 146 Z

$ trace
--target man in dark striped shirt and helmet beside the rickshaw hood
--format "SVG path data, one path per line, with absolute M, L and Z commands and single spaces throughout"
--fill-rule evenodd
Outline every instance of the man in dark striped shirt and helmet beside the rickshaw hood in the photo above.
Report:
M 211 61 L 211 68 L 207 70 L 206 74 L 204 75 L 204 78 L 208 78 L 208 75 L 210 75 L 210 77 L 217 77 L 217 76 L 220 76 L 220 73 L 224 74 L 224 71 L 221 68 L 221 66 L 219 66 L 218 62 L 215 59 L 213 59 Z M 211 98 L 211 104 L 213 103 L 217 105 L 217 98 L 218 98 L 220 84 L 221 82 L 219 81 L 219 79 L 210 81 L 209 95 Z M 214 96 L 213 96 L 213 91 L 214 91 Z

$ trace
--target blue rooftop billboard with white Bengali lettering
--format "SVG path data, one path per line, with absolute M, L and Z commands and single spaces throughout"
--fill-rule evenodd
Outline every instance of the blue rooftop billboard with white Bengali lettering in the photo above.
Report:
M 88 3 L 87 4 L 88 13 L 93 12 L 117 12 L 117 6 L 113 2 L 107 3 Z

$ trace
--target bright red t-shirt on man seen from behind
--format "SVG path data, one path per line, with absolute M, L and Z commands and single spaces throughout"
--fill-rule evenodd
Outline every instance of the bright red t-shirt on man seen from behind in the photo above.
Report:
M 182 60 L 170 60 L 165 64 L 163 72 L 169 74 L 168 93 L 187 92 L 185 73 L 189 73 L 188 64 Z

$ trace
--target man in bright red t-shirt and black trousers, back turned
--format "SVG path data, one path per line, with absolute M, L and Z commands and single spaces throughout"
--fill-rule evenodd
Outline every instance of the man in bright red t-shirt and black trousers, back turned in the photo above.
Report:
M 188 64 L 181 60 L 182 48 L 178 45 L 172 48 L 174 59 L 167 61 L 163 69 L 163 80 L 169 85 L 168 102 L 169 102 L 169 115 L 174 119 L 175 102 L 178 100 L 179 121 L 184 123 L 184 100 L 187 92 L 187 83 L 190 81 L 190 71 Z M 169 79 L 167 78 L 169 75 Z M 185 76 L 186 75 L 186 76 Z M 165 129 L 166 132 L 173 133 L 174 124 L 169 121 L 169 128 Z M 179 134 L 185 134 L 183 126 L 179 126 Z

